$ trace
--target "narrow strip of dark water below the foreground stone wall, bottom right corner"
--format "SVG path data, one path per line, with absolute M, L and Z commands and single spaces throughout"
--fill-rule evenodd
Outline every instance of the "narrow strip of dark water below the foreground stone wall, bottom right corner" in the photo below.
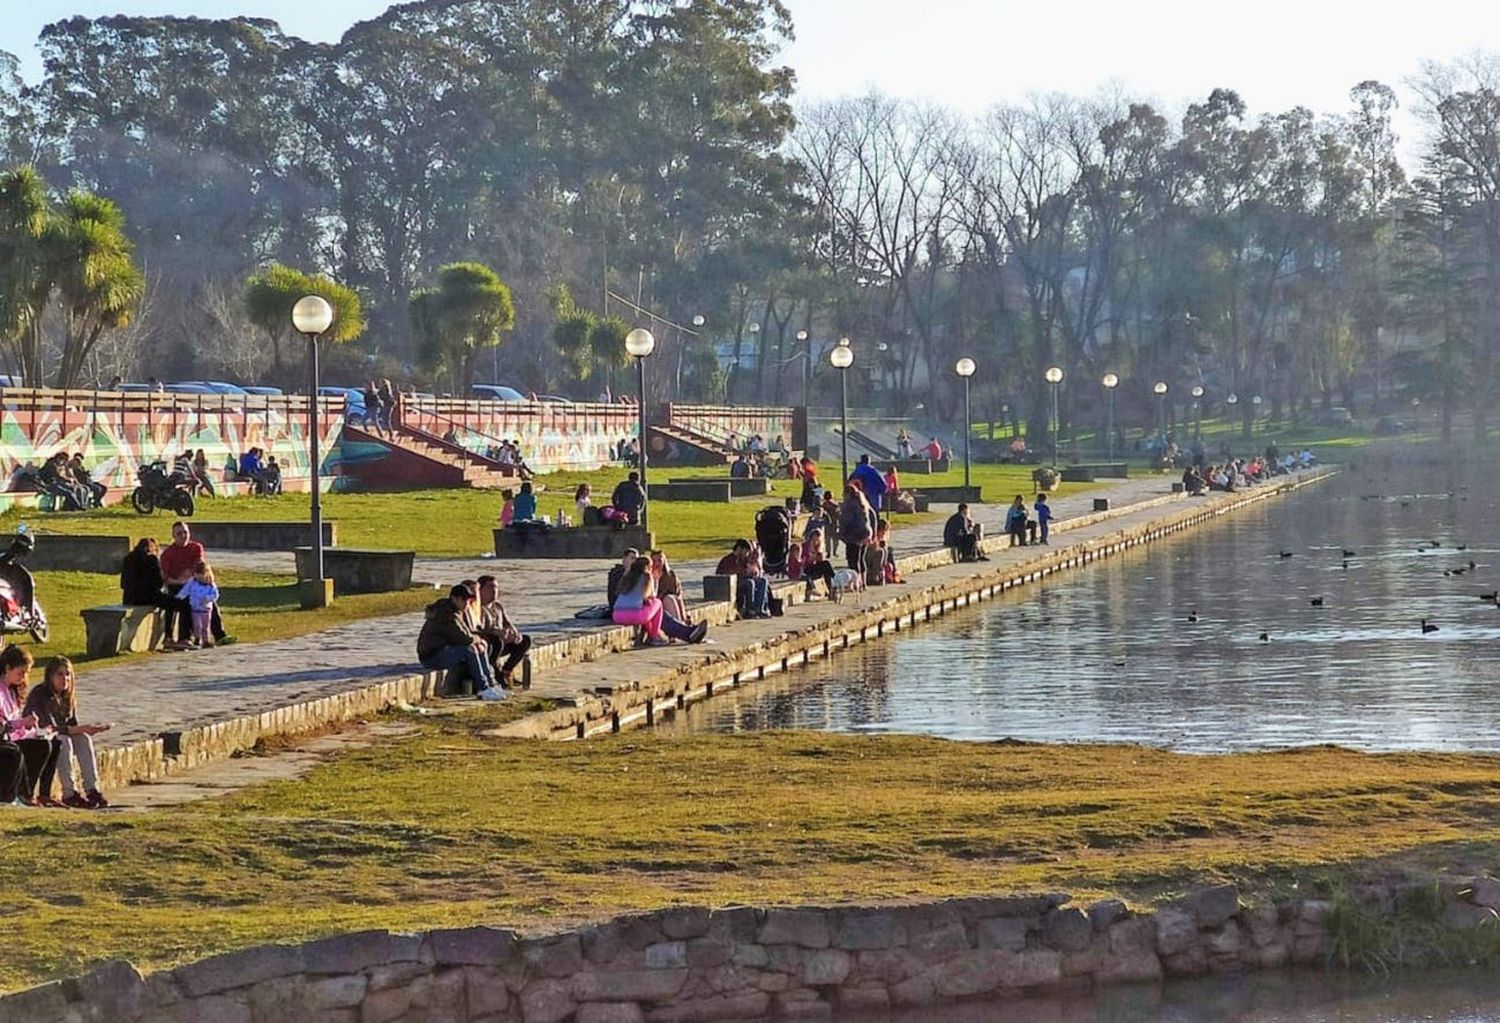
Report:
M 1173 981 L 920 1012 L 861 1016 L 861 1023 L 1494 1023 L 1500 978 L 1437 972 L 1407 978 L 1318 972 Z M 843 1023 L 854 1023 L 852 1018 Z

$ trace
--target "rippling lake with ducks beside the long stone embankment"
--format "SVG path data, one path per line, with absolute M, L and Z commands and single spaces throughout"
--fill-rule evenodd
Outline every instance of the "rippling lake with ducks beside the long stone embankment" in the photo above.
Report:
M 1360 459 L 663 728 L 1500 750 L 1500 609 L 1479 598 L 1500 586 L 1500 464 Z

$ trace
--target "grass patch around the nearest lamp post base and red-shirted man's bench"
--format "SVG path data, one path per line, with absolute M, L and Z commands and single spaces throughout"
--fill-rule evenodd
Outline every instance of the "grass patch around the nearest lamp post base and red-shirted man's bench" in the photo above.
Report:
M 357 594 L 339 597 L 332 608 L 302 610 L 297 602 L 297 582 L 290 576 L 266 572 L 240 572 L 219 568 L 214 572 L 222 598 L 225 627 L 242 642 L 302 636 L 330 628 L 346 621 L 399 615 L 420 610 L 434 600 L 430 588 L 412 588 L 402 592 Z M 51 636 L 45 644 L 33 644 L 30 636 L 16 636 L 38 662 L 54 654 L 66 654 L 74 660 L 84 658 L 84 620 L 78 615 L 84 608 L 120 602 L 117 576 L 93 572 L 39 572 L 38 592 Z M 110 663 L 117 663 L 111 658 Z M 80 670 L 87 672 L 87 666 Z

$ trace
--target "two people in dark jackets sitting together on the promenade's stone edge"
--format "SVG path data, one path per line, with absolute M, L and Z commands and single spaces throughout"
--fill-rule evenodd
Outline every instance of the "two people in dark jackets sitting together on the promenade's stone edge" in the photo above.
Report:
M 428 604 L 417 633 L 417 660 L 429 670 L 464 669 L 474 696 L 506 699 L 516 687 L 516 668 L 531 650 L 500 600 L 495 576 L 465 579 L 448 596 Z

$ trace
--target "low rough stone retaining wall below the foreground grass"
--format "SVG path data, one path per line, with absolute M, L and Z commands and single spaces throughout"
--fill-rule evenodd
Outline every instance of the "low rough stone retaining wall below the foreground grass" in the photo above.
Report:
M 1431 885 L 1428 885 L 1431 888 Z M 1440 890 L 1454 930 L 1500 882 Z M 1394 890 L 1366 892 L 1378 910 Z M 1134 912 L 1065 894 L 898 906 L 668 909 L 554 934 L 466 927 L 272 945 L 141 976 L 111 962 L 0 999 L 0 1022 L 690 1023 L 1004 1002 L 1328 960 L 1330 904 L 1198 888 Z

